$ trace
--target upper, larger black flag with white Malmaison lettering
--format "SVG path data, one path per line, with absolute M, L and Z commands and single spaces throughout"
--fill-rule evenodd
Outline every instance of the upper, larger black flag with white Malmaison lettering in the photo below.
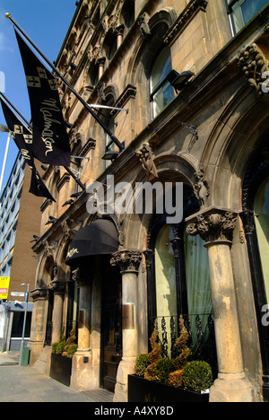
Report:
M 50 165 L 70 166 L 70 144 L 62 114 L 56 78 L 16 32 L 30 98 L 36 159 Z

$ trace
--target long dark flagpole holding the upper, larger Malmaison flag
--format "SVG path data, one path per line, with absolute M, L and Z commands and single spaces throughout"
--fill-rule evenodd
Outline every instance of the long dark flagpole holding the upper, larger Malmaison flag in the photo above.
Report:
M 46 61 L 48 66 L 50 66 L 53 69 L 53 71 L 56 73 L 56 75 L 59 77 L 59 79 L 61 79 L 61 81 L 63 83 L 65 83 L 65 85 L 70 89 L 70 91 L 74 93 L 74 96 L 82 103 L 83 107 L 85 109 L 87 109 L 88 112 L 90 112 L 91 116 L 93 118 L 95 118 L 95 120 L 100 124 L 100 127 L 102 127 L 105 130 L 105 132 L 111 138 L 113 143 L 115 143 L 117 145 L 117 147 L 119 148 L 120 152 L 122 152 L 124 150 L 124 145 L 119 142 L 119 140 L 117 139 L 116 136 L 113 135 L 113 133 L 111 133 L 111 131 L 108 129 L 108 127 L 106 127 L 106 125 L 101 121 L 101 119 L 91 109 L 90 105 L 86 101 L 84 101 L 82 99 L 82 97 L 79 95 L 79 93 L 74 90 L 74 87 L 65 80 L 65 77 L 62 74 L 60 74 L 60 72 L 58 71 L 56 66 L 54 66 L 49 61 L 48 57 L 46 57 L 45 54 L 43 54 L 43 52 L 39 49 L 39 47 L 30 39 L 30 37 L 27 35 L 27 33 L 22 30 L 21 26 L 13 20 L 10 13 L 4 13 L 4 14 L 5 14 L 5 17 L 7 19 L 9 19 L 11 22 L 13 22 L 13 25 L 15 26 L 15 28 L 17 28 L 19 31 L 22 32 L 22 35 L 30 42 L 30 45 L 38 51 L 39 55 Z

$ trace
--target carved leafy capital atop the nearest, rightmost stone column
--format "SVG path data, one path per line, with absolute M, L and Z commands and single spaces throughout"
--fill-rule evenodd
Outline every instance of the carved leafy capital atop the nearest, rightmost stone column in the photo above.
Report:
M 187 218 L 187 233 L 200 235 L 206 242 L 230 242 L 238 214 L 227 209 L 210 208 Z

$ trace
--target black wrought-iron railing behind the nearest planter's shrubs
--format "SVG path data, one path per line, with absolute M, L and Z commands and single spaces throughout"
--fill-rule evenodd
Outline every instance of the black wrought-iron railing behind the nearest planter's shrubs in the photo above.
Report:
M 156 317 L 151 319 L 151 330 L 157 329 L 162 357 L 175 358 L 178 354 L 176 341 L 180 335 L 178 317 Z M 183 315 L 189 341 L 187 346 L 192 350 L 192 359 L 204 360 L 217 369 L 217 352 L 213 314 Z

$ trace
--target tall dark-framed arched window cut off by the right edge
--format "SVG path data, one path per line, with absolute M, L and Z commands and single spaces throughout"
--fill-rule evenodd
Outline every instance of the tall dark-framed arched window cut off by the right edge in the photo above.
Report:
M 263 362 L 265 398 L 269 389 L 269 328 L 264 316 L 269 303 L 269 147 L 268 136 L 253 153 L 243 182 L 243 212 L 248 258 L 256 303 L 256 321 Z M 264 311 L 265 310 L 265 311 Z

